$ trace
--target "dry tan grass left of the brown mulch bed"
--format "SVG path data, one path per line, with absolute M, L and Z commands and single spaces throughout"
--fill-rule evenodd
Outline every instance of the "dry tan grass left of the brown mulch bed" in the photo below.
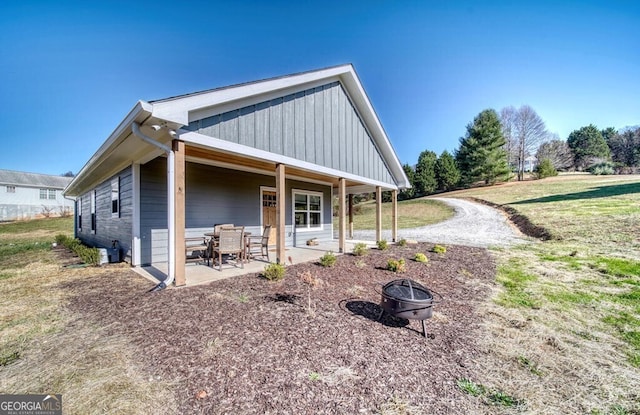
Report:
M 62 268 L 50 250 L 26 259 L 0 264 L 0 393 L 60 393 L 65 414 L 177 413 L 173 385 L 137 363 L 139 347 L 65 307 L 84 278 L 131 271 Z

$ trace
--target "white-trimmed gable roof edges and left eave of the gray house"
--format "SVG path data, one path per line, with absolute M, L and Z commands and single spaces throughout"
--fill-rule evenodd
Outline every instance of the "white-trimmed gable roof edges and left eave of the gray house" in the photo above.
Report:
M 138 101 L 111 136 L 98 149 L 96 154 L 80 170 L 74 181 L 65 190 L 71 196 L 81 194 L 92 186 L 106 180 L 111 175 L 129 166 L 132 162 L 145 163 L 162 152 L 137 137 L 132 137 L 132 124 L 162 126 L 165 134 L 152 136 L 161 144 L 167 144 L 171 137 L 166 130 L 176 131 L 185 142 L 203 146 L 191 131 L 183 129 L 191 121 L 224 112 L 225 109 L 238 108 L 240 105 L 257 103 L 269 98 L 282 96 L 291 91 L 320 86 L 328 81 L 339 81 L 347 92 L 358 115 L 368 128 L 371 138 L 385 161 L 396 186 L 400 189 L 410 187 L 409 180 L 397 158 L 397 155 L 378 119 L 368 96 L 351 64 L 325 69 L 297 73 L 293 75 L 253 81 L 201 92 L 194 92 L 154 101 Z M 237 151 L 226 144 L 225 151 Z M 213 145 L 213 144 L 212 144 Z M 217 144 L 216 144 L 217 145 Z M 222 148 L 222 147 L 219 147 Z M 246 147 L 245 147 L 246 148 Z M 240 151 L 239 154 L 246 154 Z M 294 162 L 281 160 L 261 152 L 259 157 L 275 162 Z M 301 165 L 302 168 L 308 168 Z

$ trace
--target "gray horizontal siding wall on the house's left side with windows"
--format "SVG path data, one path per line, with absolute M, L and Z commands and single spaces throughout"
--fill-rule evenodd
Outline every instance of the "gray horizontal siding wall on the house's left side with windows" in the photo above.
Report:
M 120 179 L 119 216 L 111 215 L 111 180 Z M 91 193 L 96 191 L 96 229 L 91 230 Z M 97 248 L 111 248 L 117 240 L 123 259 L 131 260 L 132 221 L 133 221 L 133 182 L 131 167 L 102 182 L 90 192 L 80 196 L 82 199 L 82 227 L 77 225 L 76 236 L 85 245 Z M 76 221 L 78 220 L 76 213 Z

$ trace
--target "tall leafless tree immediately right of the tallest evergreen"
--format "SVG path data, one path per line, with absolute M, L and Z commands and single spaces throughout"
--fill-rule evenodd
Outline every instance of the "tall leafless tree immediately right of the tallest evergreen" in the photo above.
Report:
M 525 159 L 548 139 L 549 132 L 533 108 L 523 105 L 515 113 L 512 133 L 516 145 L 518 180 L 524 180 Z

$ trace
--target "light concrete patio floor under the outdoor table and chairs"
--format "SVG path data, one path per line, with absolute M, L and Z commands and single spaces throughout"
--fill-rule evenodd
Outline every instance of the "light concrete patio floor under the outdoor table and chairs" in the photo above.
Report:
M 353 251 L 353 246 L 356 243 L 363 242 L 369 247 L 374 247 L 376 244 L 372 241 L 346 241 L 345 252 L 349 253 Z M 286 265 L 300 264 L 303 262 L 317 261 L 321 256 L 327 252 L 333 252 L 338 254 L 338 241 L 326 241 L 320 242 L 315 246 L 302 246 L 302 247 L 287 247 L 286 257 L 284 262 Z M 275 261 L 275 247 L 271 247 L 269 250 L 269 257 L 272 261 Z M 244 268 L 236 267 L 232 261 L 228 264 L 222 265 L 222 271 L 218 270 L 218 267 L 207 266 L 205 262 L 193 262 L 186 265 L 186 287 L 191 287 L 199 284 L 206 284 L 212 281 L 217 281 L 225 278 L 236 277 L 240 275 L 253 274 L 262 272 L 264 267 L 268 264 L 266 258 L 252 259 L 251 262 L 245 263 Z M 167 278 L 167 263 L 161 262 L 150 266 L 134 267 L 133 270 L 141 276 L 149 279 L 154 284 L 164 281 Z M 173 285 L 171 288 L 175 288 Z

